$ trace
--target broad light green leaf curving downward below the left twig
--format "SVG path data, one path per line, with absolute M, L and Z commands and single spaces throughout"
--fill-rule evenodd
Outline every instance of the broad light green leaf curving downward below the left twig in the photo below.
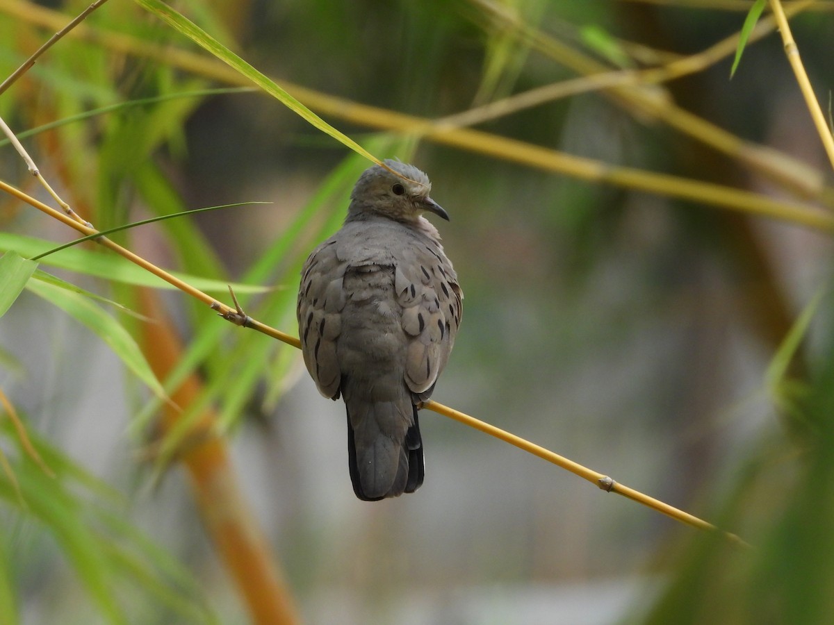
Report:
M 61 308 L 76 321 L 96 333 L 104 343 L 107 343 L 113 349 L 113 353 L 122 360 L 128 369 L 142 380 L 158 398 L 165 399 L 167 397 L 133 337 L 102 308 L 99 308 L 83 295 L 40 280 L 31 281 L 27 288 L 38 297 Z

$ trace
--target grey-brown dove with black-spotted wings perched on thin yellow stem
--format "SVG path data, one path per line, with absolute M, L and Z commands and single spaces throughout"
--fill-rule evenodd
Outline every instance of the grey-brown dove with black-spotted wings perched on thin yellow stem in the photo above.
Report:
M 460 327 L 463 292 L 423 213 L 449 221 L 420 169 L 386 159 L 359 177 L 347 217 L 310 253 L 298 307 L 304 364 L 325 398 L 344 399 L 357 498 L 414 493 L 425 463 L 417 411 Z

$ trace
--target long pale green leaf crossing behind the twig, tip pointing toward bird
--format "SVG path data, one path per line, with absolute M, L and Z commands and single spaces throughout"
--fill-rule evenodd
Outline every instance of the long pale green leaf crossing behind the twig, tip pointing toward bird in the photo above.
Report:
M 13 251 L 21 256 L 31 258 L 53 247 L 54 243 L 44 239 L 25 237 L 20 234 L 0 233 L 0 251 Z M 174 288 L 163 279 L 157 278 L 152 273 L 148 273 L 147 270 L 112 253 L 68 248 L 62 250 L 61 253 L 44 258 L 42 264 L 139 287 Z M 229 293 L 227 287 L 229 283 L 224 280 L 200 278 L 189 273 L 170 273 L 202 291 Z M 235 293 L 264 293 L 264 291 L 269 290 L 264 287 L 240 283 L 232 283 L 232 288 L 234 288 Z

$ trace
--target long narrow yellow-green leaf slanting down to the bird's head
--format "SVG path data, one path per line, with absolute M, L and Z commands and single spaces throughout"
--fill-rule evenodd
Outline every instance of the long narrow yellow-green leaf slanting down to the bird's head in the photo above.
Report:
M 288 107 L 291 111 L 299 115 L 299 117 L 302 117 L 306 122 L 309 122 L 309 124 L 314 126 L 314 128 L 319 128 L 320 131 L 329 134 L 331 137 L 336 139 L 336 141 L 344 144 L 344 146 L 350 148 L 355 153 L 364 156 L 364 158 L 367 158 L 374 163 L 379 163 L 379 159 L 360 146 L 359 143 L 356 143 L 344 133 L 341 133 L 339 130 L 336 130 L 336 128 L 330 126 L 329 123 L 324 121 L 324 119 L 309 110 L 308 107 L 305 107 L 304 104 L 296 100 L 294 97 L 289 95 L 288 92 L 284 91 L 284 89 L 270 80 L 269 77 L 266 77 L 263 73 L 249 65 L 248 62 L 244 61 L 244 59 L 229 50 L 228 47 L 225 47 L 214 37 L 209 35 L 208 32 L 203 31 L 203 29 L 188 20 L 188 18 L 185 18 L 181 13 L 177 13 L 172 7 L 169 7 L 163 2 L 159 2 L 159 0 L 135 0 L 135 2 L 147 11 L 157 15 L 158 18 L 163 20 L 163 22 L 168 23 L 168 26 L 174 28 L 178 32 L 181 32 L 193 42 L 197 43 L 198 46 L 203 47 L 204 50 L 214 54 L 215 57 L 218 57 L 221 61 L 229 65 L 229 67 L 232 67 L 242 76 L 249 78 L 249 80 L 254 82 L 254 84 L 269 93 L 269 95 L 278 99 L 279 102 L 282 102 L 285 107 Z

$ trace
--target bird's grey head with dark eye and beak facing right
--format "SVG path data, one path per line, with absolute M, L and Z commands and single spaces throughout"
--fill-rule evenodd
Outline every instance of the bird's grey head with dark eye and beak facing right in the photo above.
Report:
M 359 177 L 350 194 L 348 217 L 362 219 L 381 215 L 398 222 L 416 222 L 421 213 L 429 211 L 446 221 L 449 215 L 429 197 L 429 177 L 414 165 L 385 160 L 389 171 L 380 165 L 368 168 Z

